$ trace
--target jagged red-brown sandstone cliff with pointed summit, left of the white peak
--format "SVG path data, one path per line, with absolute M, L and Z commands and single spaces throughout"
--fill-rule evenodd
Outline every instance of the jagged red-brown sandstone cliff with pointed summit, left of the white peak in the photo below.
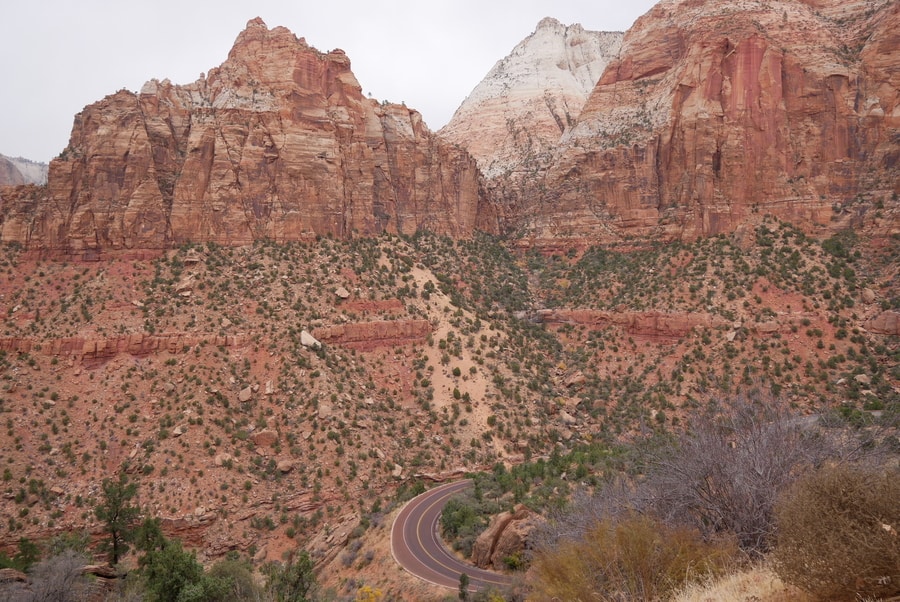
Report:
M 86 107 L 45 197 L 7 194 L 2 239 L 78 252 L 466 237 L 492 229 L 479 187 L 474 161 L 418 112 L 364 98 L 342 51 L 256 19 L 198 81 L 154 80 Z

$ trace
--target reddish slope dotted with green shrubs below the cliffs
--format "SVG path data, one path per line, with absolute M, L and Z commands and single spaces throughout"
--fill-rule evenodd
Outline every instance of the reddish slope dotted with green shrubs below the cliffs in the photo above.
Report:
M 0 540 L 98 532 L 98 483 L 125 473 L 203 560 L 301 545 L 388 591 L 366 534 L 428 480 L 579 449 L 579 481 L 639 471 L 622 445 L 750 389 L 890 427 L 900 346 L 865 325 L 900 309 L 898 259 L 772 220 L 559 254 L 428 233 L 97 262 L 7 246 Z

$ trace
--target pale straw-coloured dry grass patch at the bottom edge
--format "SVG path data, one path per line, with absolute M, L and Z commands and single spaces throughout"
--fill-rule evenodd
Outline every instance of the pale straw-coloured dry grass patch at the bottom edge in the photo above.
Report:
M 673 602 L 813 602 L 815 598 L 784 584 L 774 571 L 755 567 L 706 583 L 687 586 Z

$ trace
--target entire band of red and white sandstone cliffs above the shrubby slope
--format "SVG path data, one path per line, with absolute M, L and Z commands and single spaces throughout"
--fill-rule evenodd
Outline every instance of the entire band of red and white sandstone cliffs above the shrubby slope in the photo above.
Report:
M 663 0 L 624 38 L 544 19 L 438 135 L 365 98 L 342 51 L 256 19 L 198 81 L 79 113 L 46 187 L 0 190 L 0 240 L 78 253 L 428 229 L 565 247 L 765 214 L 896 234 L 898 66 L 896 1 Z

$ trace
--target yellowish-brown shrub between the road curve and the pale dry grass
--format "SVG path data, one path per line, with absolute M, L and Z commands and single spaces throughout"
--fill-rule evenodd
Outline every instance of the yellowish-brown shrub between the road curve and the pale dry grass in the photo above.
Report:
M 737 554 L 726 540 L 706 541 L 696 530 L 629 514 L 538 549 L 532 586 L 540 600 L 656 600 L 722 573 Z

